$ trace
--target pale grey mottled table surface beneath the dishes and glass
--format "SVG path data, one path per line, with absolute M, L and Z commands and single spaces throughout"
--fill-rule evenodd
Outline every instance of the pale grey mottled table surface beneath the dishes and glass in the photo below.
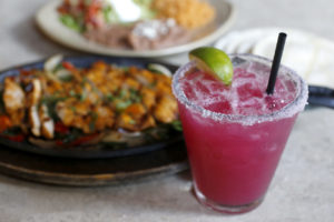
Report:
M 42 36 L 35 12 L 47 0 L 0 0 L 0 69 L 55 53 L 80 54 Z M 332 0 L 232 0 L 237 18 L 230 30 L 289 27 L 334 40 Z M 184 63 L 186 54 L 159 58 Z M 0 175 L 0 222 L 107 221 L 333 221 L 334 112 L 303 112 L 291 134 L 265 202 L 234 216 L 198 204 L 190 173 L 107 188 L 62 188 Z

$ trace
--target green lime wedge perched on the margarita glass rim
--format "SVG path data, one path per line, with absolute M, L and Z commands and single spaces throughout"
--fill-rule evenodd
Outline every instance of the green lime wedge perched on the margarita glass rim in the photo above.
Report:
M 191 50 L 189 59 L 195 61 L 200 70 L 216 77 L 225 84 L 232 83 L 233 64 L 224 51 L 213 47 L 202 47 Z

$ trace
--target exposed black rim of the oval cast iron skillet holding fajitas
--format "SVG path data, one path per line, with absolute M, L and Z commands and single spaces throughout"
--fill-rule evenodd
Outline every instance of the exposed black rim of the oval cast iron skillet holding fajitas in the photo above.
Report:
M 119 67 L 129 67 L 136 65 L 139 68 L 147 68 L 149 63 L 159 63 L 168 68 L 171 72 L 175 72 L 177 67 L 167 64 L 164 62 L 157 62 L 147 59 L 134 59 L 134 58 L 114 58 L 114 57 L 104 57 L 104 56 L 82 56 L 82 57 L 65 57 L 65 61 L 69 61 L 78 68 L 89 67 L 95 61 L 102 60 L 110 64 L 116 64 Z M 46 60 L 22 64 L 18 67 L 13 67 L 0 72 L 0 82 L 3 82 L 6 77 L 18 75 L 20 70 L 30 70 L 30 69 L 43 69 L 43 63 Z M 161 140 L 154 143 L 140 145 L 140 147 L 125 147 L 121 149 L 107 149 L 107 148 L 97 148 L 87 150 L 85 148 L 75 147 L 75 148 L 66 148 L 66 149 L 46 149 L 33 145 L 28 142 L 14 142 L 8 140 L 6 138 L 0 137 L 0 144 L 3 147 L 18 149 L 21 151 L 27 151 L 37 154 L 43 154 L 49 157 L 57 158 L 75 158 L 75 159 L 101 159 L 101 158 L 118 158 L 126 155 L 140 154 L 145 152 L 155 151 L 158 149 L 164 149 L 167 147 L 178 145 L 183 143 L 183 134 L 181 132 L 174 132 L 173 138 L 168 140 Z

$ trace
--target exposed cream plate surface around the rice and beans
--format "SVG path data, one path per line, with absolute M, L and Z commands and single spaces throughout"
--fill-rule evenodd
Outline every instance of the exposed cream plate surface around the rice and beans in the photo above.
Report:
M 134 51 L 107 48 L 96 42 L 88 41 L 80 33 L 65 27 L 59 21 L 58 12 L 56 10 L 60 2 L 60 0 L 48 2 L 36 14 L 37 24 L 46 36 L 53 41 L 72 49 L 121 57 L 163 57 L 209 44 L 226 32 L 235 18 L 235 9 L 232 3 L 222 0 L 208 0 L 208 2 L 216 9 L 216 19 L 210 24 L 203 28 L 200 30 L 200 36 L 197 36 L 195 40 L 166 49 Z

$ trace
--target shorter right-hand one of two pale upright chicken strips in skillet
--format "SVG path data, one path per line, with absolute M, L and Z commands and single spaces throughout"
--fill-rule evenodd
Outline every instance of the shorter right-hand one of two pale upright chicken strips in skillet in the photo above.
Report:
M 55 122 L 49 115 L 48 107 L 42 104 L 39 109 L 39 117 L 41 120 L 41 134 L 46 139 L 53 139 Z

